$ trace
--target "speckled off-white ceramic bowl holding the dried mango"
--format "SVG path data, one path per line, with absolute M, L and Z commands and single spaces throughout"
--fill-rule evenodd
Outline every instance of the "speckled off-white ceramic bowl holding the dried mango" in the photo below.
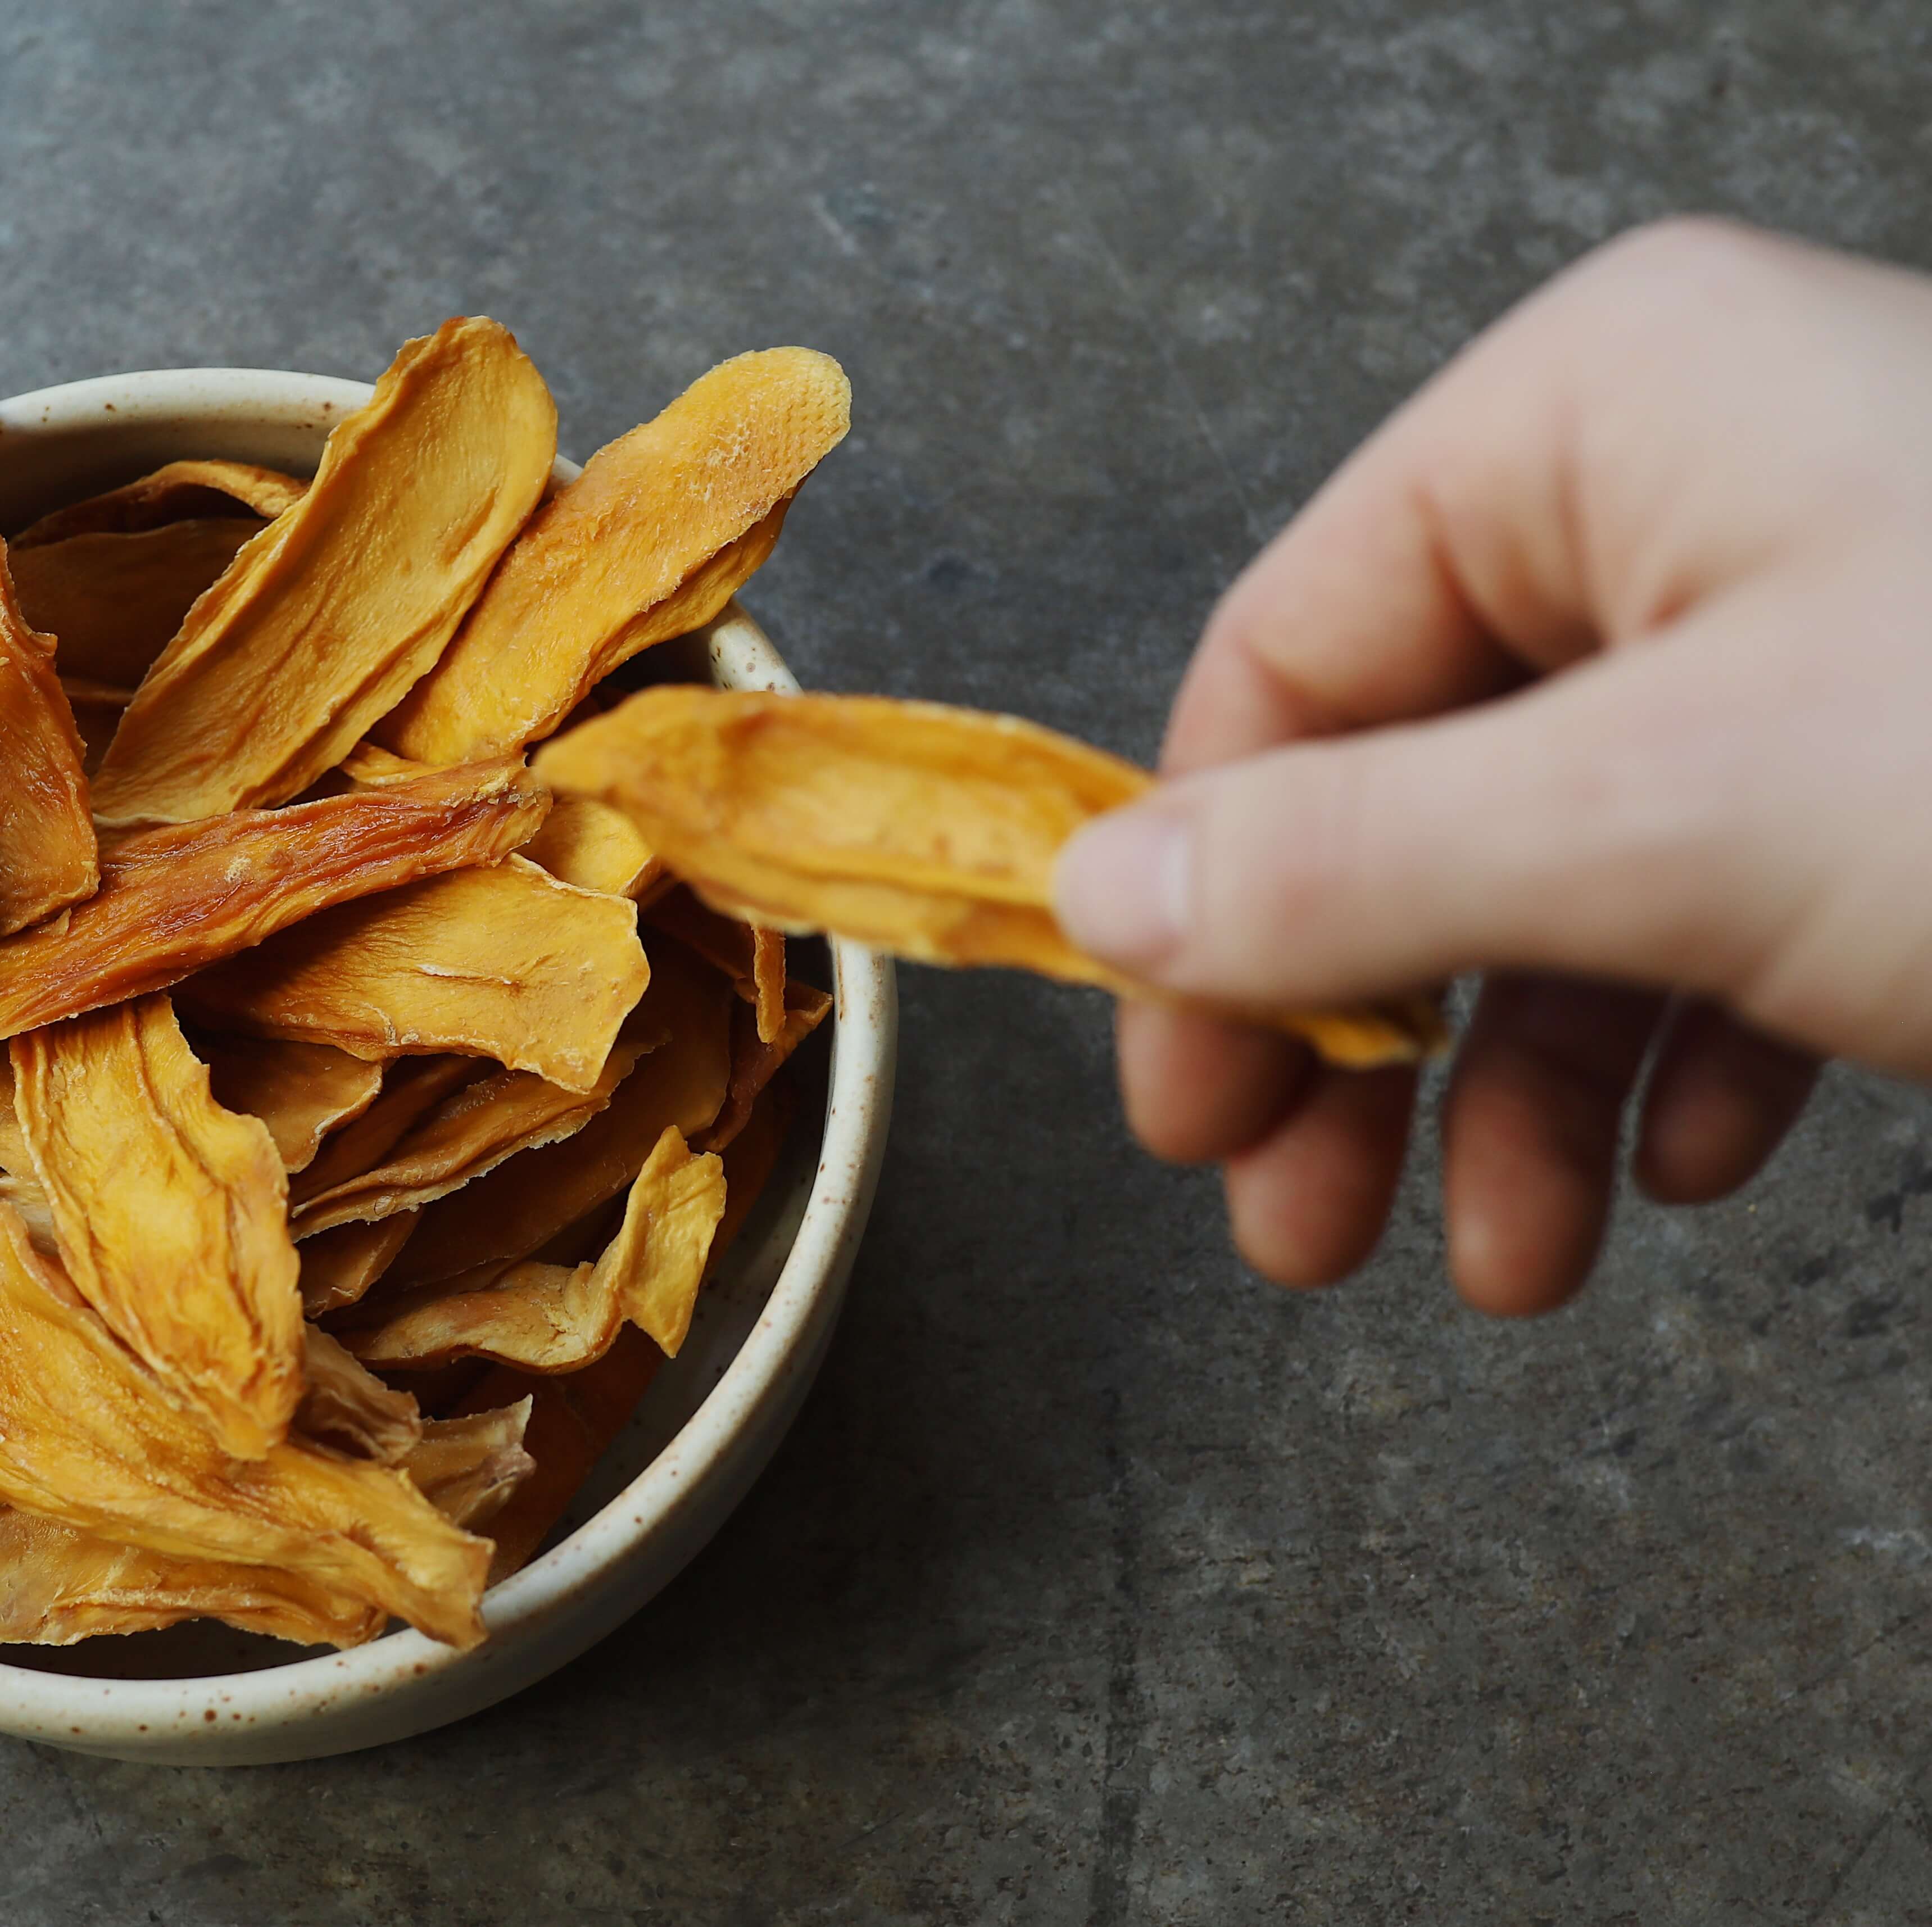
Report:
M 0 402 L 0 530 L 180 456 L 313 474 L 357 381 L 261 369 L 110 375 Z M 556 464 L 556 479 L 576 468 Z M 674 646 L 676 647 L 676 646 Z M 732 605 L 684 653 L 726 688 L 794 690 Z M 574 1529 L 483 1602 L 489 1639 L 454 1653 L 392 1631 L 350 1653 L 184 1625 L 66 1649 L 6 1647 L 0 1732 L 116 1759 L 317 1759 L 427 1732 L 520 1691 L 636 1612 L 711 1539 L 792 1423 L 838 1316 L 893 1109 L 891 964 L 831 945 L 837 1013 L 819 1138 L 786 1158 L 699 1301 L 678 1359 L 591 1475 Z

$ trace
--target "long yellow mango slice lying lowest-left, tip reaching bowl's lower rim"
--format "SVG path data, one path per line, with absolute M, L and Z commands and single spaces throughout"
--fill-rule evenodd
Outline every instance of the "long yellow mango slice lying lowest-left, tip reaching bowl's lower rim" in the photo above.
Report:
M 0 1500 L 21 1511 L 174 1558 L 301 1573 L 452 1645 L 483 1637 L 489 1540 L 383 1465 L 296 1442 L 224 1453 L 4 1208 L 0 1411 Z

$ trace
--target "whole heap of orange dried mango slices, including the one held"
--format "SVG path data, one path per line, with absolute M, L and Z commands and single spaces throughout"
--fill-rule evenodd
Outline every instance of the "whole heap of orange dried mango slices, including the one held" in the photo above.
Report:
M 775 1164 L 829 1007 L 781 932 L 1136 993 L 1049 891 L 1144 771 L 614 675 L 848 400 L 740 356 L 545 501 L 541 377 L 452 321 L 313 481 L 174 462 L 0 549 L 0 1639 L 481 1639 Z

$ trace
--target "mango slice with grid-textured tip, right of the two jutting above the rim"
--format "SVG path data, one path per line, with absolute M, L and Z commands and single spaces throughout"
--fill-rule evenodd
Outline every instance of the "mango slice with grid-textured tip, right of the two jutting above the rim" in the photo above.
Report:
M 810 348 L 699 377 L 535 516 L 377 740 L 458 763 L 547 736 L 618 663 L 730 601 L 850 419 L 844 371 Z

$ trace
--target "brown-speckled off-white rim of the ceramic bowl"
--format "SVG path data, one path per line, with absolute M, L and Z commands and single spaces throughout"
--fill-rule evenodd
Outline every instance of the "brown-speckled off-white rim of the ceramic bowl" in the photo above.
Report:
M 91 429 L 110 439 L 232 419 L 249 427 L 327 429 L 369 400 L 371 383 L 288 369 L 189 367 L 99 375 L 0 400 L 0 460 L 14 437 Z M 191 450 L 184 448 L 184 454 Z M 578 466 L 558 458 L 554 481 Z M 730 686 L 796 694 L 798 682 L 765 632 L 732 603 L 711 626 L 713 675 Z M 489 1668 L 572 1598 L 616 1579 L 624 1560 L 670 1529 L 686 1506 L 703 1504 L 707 1475 L 723 1473 L 732 1444 L 786 1376 L 808 1363 L 825 1332 L 821 1301 L 842 1291 L 864 1231 L 885 1154 L 896 1057 L 896 999 L 889 959 L 831 939 L 835 1021 L 825 1129 L 811 1193 L 763 1312 L 738 1353 L 678 1434 L 597 1513 L 529 1566 L 489 1589 L 489 1639 L 469 1653 L 406 1627 L 361 1647 L 270 1664 L 251 1672 L 176 1680 L 120 1680 L 41 1672 L 0 1662 L 0 1730 L 87 1749 L 131 1749 L 158 1738 L 209 1740 L 234 1722 L 282 1726 L 346 1701 L 427 1685 L 458 1668 Z M 643 1598 L 638 1600 L 643 1604 Z M 495 1695 L 491 1695 L 495 1697 Z M 487 1701 L 479 1701 L 487 1703 Z M 213 1711 L 218 1707 L 218 1714 Z

